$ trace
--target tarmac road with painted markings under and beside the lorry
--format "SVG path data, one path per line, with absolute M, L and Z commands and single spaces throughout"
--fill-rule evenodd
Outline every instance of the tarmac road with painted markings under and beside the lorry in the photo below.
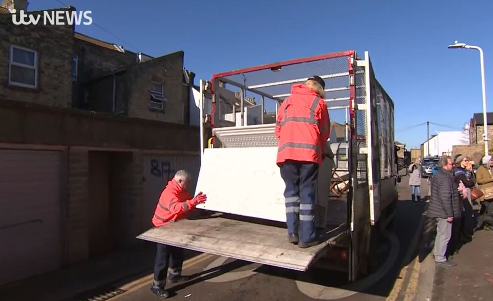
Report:
M 422 192 L 428 193 L 423 180 Z M 343 273 L 314 271 L 301 273 L 286 269 L 251 264 L 230 258 L 201 254 L 187 260 L 185 275 L 195 278 L 184 284 L 169 285 L 170 300 L 395 300 L 406 299 L 406 294 L 418 279 L 410 268 L 413 251 L 418 243 L 420 221 L 425 203 L 410 201 L 408 178 L 399 185 L 393 232 L 387 233 L 385 243 L 378 250 L 380 263 L 377 271 L 356 283 L 348 283 Z M 404 267 L 404 268 L 403 268 Z M 314 278 L 317 280 L 315 281 Z M 121 287 L 120 293 L 109 300 L 151 301 L 158 299 L 150 290 L 152 275 L 132 280 Z

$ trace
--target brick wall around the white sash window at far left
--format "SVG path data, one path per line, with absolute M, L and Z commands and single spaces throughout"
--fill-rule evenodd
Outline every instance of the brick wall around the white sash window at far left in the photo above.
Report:
M 37 51 L 37 88 L 9 85 L 11 45 Z M 70 25 L 14 25 L 10 14 L 0 14 L 0 98 L 70 107 L 73 45 Z

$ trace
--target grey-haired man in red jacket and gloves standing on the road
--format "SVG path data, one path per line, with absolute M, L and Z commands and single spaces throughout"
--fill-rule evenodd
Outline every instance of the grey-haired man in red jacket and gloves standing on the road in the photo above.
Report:
M 195 208 L 197 204 L 204 203 L 207 200 L 206 195 L 202 192 L 191 199 L 187 192 L 190 180 L 190 174 L 184 170 L 178 171 L 175 177 L 169 180 L 156 206 L 153 216 L 154 227 L 162 227 L 169 222 L 186 218 L 188 212 Z M 157 246 L 154 281 L 150 290 L 161 298 L 167 298 L 169 292 L 165 290 L 165 285 L 168 267 L 171 268 L 169 280 L 172 283 L 187 279 L 187 277 L 181 275 L 183 249 L 162 243 L 158 243 Z

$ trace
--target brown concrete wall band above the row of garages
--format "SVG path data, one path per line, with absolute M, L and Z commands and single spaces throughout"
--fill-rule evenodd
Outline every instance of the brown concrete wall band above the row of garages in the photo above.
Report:
M 0 142 L 197 152 L 199 137 L 194 126 L 0 100 Z

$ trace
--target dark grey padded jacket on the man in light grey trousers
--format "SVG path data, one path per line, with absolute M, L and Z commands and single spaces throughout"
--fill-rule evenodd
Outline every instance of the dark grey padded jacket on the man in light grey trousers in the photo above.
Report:
M 461 217 L 458 187 L 452 173 L 440 168 L 431 178 L 431 198 L 427 215 L 440 218 Z

